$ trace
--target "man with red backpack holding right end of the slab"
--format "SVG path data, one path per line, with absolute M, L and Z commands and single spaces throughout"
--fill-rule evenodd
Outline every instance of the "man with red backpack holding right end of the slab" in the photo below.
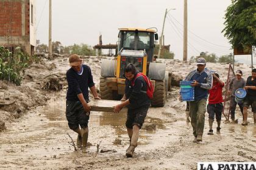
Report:
M 138 71 L 133 64 L 128 64 L 124 70 L 126 77 L 126 93 L 123 103 L 115 106 L 115 112 L 119 112 L 123 107 L 128 106 L 127 112 L 127 133 L 130 138 L 130 146 L 126 149 L 126 156 L 132 157 L 134 149 L 137 147 L 138 135 L 144 119 L 148 113 L 150 100 L 147 91 L 147 84 L 142 76 L 137 77 Z

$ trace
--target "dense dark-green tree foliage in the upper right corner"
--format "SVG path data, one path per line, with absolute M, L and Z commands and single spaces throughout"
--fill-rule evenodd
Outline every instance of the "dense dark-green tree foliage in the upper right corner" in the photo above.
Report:
M 256 1 L 232 0 L 224 17 L 224 36 L 233 47 L 256 45 Z

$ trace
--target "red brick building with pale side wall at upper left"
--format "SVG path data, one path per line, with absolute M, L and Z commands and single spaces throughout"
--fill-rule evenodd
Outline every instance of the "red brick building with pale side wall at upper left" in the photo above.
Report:
M 35 0 L 0 0 L 0 45 L 20 46 L 30 55 L 36 44 Z

